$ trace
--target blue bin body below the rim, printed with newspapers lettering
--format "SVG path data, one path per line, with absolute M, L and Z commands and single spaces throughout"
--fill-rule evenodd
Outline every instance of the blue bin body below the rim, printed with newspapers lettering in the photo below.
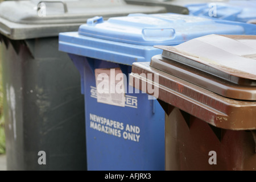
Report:
M 125 94 L 125 107 L 97 102 L 94 70 L 121 68 L 128 78 L 131 66 L 70 56 L 84 68 L 88 170 L 164 170 L 164 112 L 159 103 L 135 91 Z

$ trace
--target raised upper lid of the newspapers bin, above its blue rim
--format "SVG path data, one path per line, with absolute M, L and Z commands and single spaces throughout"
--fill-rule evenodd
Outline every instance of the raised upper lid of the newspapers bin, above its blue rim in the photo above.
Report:
M 242 26 L 214 22 L 212 19 L 181 14 L 130 14 L 89 19 L 79 34 L 144 46 L 176 45 L 207 34 L 245 34 Z

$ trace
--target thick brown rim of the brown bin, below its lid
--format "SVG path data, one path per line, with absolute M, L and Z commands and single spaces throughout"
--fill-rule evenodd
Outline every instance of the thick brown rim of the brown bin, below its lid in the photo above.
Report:
M 148 76 L 148 73 L 151 76 Z M 155 74 L 159 77 L 158 84 L 155 82 Z M 137 84 L 138 81 L 140 84 Z M 167 103 L 167 105 L 163 105 L 167 114 L 170 113 L 169 110 L 173 107 L 177 107 L 222 129 L 256 129 L 255 101 L 239 101 L 222 97 L 201 86 L 152 68 L 150 62 L 133 63 L 130 84 L 145 93 L 155 96 L 158 100 Z M 148 89 L 151 86 L 148 85 L 156 86 L 158 93 L 152 93 Z

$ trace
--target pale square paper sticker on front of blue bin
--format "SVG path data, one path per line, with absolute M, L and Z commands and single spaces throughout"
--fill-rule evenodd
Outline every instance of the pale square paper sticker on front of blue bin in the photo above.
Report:
M 95 69 L 97 102 L 125 107 L 125 82 L 120 68 Z

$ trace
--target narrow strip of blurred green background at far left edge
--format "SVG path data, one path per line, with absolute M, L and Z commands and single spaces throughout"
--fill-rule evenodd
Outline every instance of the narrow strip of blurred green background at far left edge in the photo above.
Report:
M 2 2 L 3 0 L 0 0 Z M 1 43 L 0 43 L 1 47 Z M 5 119 L 3 117 L 2 54 L 0 51 L 0 154 L 5 154 Z

